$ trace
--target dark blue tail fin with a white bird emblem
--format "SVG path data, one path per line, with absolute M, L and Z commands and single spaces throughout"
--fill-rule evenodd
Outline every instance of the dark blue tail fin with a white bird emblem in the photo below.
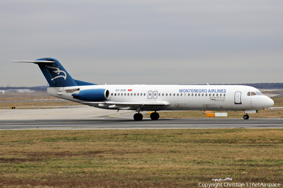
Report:
M 42 58 L 36 60 L 35 63 L 38 64 L 50 87 L 77 86 L 75 80 L 58 60 L 54 58 Z

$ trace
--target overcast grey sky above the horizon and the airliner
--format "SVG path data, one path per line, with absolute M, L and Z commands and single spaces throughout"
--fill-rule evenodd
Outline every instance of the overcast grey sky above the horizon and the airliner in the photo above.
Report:
M 283 82 L 280 0 L 1 0 L 0 86 L 52 57 L 95 84 Z

